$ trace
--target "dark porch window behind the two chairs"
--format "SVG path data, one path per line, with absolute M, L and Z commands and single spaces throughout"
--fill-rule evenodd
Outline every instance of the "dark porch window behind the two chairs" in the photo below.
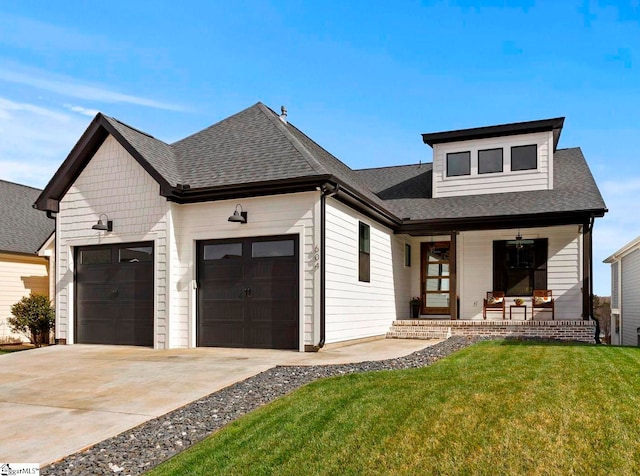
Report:
M 507 296 L 533 296 L 547 289 L 546 238 L 493 242 L 493 290 Z

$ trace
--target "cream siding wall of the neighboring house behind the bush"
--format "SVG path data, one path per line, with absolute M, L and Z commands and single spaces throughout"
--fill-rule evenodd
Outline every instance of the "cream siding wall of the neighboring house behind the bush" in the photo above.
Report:
M 49 295 L 49 263 L 45 258 L 0 253 L 0 341 L 19 339 L 23 334 L 11 332 L 7 318 L 11 306 L 31 293 Z

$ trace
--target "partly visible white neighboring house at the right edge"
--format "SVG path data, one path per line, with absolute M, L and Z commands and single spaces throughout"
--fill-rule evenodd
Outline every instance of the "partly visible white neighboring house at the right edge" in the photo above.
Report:
M 640 237 L 604 262 L 611 265 L 611 344 L 640 346 Z

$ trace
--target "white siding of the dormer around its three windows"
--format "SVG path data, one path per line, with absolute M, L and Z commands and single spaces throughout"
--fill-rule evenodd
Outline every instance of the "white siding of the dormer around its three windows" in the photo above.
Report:
M 536 170 L 511 171 L 511 147 L 537 145 Z M 478 173 L 478 151 L 502 148 L 502 172 Z M 471 174 L 447 177 L 447 154 L 470 152 Z M 553 188 L 553 133 L 537 132 L 506 137 L 492 137 L 464 142 L 434 144 L 433 197 L 455 197 L 487 193 L 550 190 Z

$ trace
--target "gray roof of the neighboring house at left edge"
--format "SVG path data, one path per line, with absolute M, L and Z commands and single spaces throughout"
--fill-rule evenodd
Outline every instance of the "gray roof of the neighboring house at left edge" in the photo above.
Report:
M 0 180 L 0 252 L 34 254 L 53 233 L 54 220 L 32 206 L 40 192 Z

